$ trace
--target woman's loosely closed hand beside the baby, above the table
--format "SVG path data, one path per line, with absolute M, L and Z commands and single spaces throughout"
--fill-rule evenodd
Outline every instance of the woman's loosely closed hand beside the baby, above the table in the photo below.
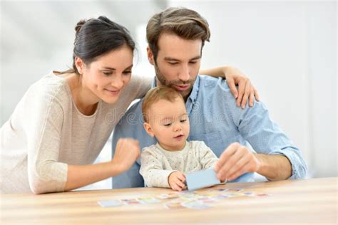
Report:
M 118 167 L 119 172 L 125 172 L 140 157 L 140 145 L 138 140 L 121 138 L 116 144 L 116 150 L 111 162 Z

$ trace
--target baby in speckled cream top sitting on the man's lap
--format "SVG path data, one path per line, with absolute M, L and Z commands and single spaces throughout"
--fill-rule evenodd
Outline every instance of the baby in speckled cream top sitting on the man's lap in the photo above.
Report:
M 216 155 L 202 141 L 187 141 L 189 117 L 182 95 L 160 86 L 150 90 L 142 105 L 144 128 L 158 143 L 145 147 L 140 174 L 148 187 L 185 189 L 185 172 L 214 167 Z

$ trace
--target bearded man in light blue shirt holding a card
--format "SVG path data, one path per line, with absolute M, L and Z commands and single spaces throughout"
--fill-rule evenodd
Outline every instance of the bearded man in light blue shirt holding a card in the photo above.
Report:
M 301 152 L 272 122 L 267 108 L 236 106 L 222 78 L 198 75 L 208 22 L 197 12 L 170 8 L 155 14 L 147 26 L 148 59 L 155 68 L 153 86 L 167 85 L 183 95 L 190 119 L 188 140 L 202 140 L 218 160 L 219 179 L 252 182 L 257 172 L 269 180 L 305 177 L 307 165 Z M 133 105 L 116 126 L 113 150 L 121 137 L 133 137 L 140 147 L 155 144 L 143 129 L 140 102 Z M 113 178 L 113 188 L 143 187 L 139 161 L 126 173 Z

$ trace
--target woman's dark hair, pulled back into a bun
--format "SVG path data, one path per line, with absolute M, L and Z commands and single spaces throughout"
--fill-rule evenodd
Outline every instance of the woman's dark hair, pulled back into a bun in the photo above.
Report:
M 108 19 L 99 16 L 98 19 L 81 20 L 75 27 L 76 36 L 73 49 L 73 68 L 61 73 L 78 73 L 75 66 L 75 57 L 81 58 L 84 63 L 90 64 L 98 56 L 110 51 L 128 46 L 132 51 L 135 42 L 129 31 L 124 27 Z

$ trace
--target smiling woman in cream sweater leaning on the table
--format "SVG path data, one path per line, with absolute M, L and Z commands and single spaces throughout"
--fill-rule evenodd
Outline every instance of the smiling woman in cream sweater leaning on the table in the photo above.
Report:
M 123 139 L 110 162 L 92 164 L 128 105 L 150 89 L 151 78 L 131 79 L 134 48 L 126 28 L 104 16 L 78 22 L 73 68 L 31 85 L 1 127 L 1 192 L 68 191 L 135 162 L 138 142 Z

